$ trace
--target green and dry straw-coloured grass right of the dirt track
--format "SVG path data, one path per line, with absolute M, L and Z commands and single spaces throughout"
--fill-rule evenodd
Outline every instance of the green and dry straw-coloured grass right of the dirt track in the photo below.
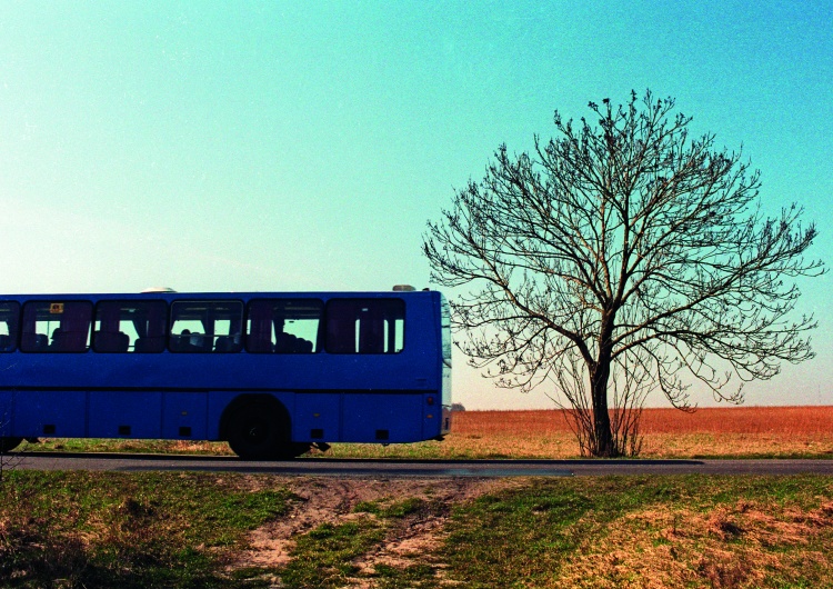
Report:
M 472 588 L 833 587 L 827 477 L 536 480 L 454 512 Z

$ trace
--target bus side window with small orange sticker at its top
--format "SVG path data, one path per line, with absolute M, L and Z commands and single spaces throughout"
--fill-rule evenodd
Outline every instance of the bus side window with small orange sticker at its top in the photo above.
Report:
M 23 305 L 20 349 L 84 352 L 90 347 L 91 320 L 92 303 L 88 301 L 29 301 Z

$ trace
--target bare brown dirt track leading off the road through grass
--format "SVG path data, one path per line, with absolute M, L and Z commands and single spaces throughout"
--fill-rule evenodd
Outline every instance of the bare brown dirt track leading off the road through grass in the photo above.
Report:
M 339 525 L 361 517 L 360 502 L 422 499 L 432 509 L 418 510 L 398 519 L 381 545 L 354 565 L 370 572 L 377 565 L 397 568 L 424 562 L 442 540 L 443 529 L 455 503 L 472 500 L 485 492 L 512 485 L 511 479 L 333 479 L 297 477 L 280 483 L 300 500 L 289 516 L 271 521 L 249 537 L 251 548 L 240 555 L 232 568 L 281 567 L 290 561 L 294 538 L 322 523 Z M 368 587 L 357 580 L 357 588 Z

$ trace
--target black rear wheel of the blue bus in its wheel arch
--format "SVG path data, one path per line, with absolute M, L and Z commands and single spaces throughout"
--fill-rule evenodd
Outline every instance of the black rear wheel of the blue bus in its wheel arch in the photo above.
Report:
M 253 401 L 229 419 L 231 450 L 243 460 L 284 460 L 301 456 L 309 443 L 290 441 L 289 418 L 272 403 Z

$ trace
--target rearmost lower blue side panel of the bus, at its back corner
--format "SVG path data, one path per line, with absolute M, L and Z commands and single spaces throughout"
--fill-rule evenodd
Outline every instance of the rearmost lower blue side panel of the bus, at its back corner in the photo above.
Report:
M 343 441 L 422 440 L 421 393 L 350 393 L 343 398 Z

